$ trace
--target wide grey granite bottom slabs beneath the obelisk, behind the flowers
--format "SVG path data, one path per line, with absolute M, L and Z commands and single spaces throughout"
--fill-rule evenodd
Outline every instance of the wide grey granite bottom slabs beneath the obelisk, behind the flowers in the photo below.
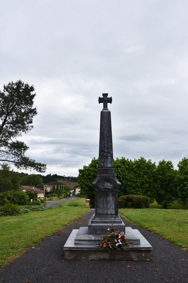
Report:
M 89 235 L 88 227 L 72 230 L 64 246 L 66 259 L 121 259 L 121 260 L 151 260 L 152 246 L 142 234 L 131 227 L 126 227 L 125 237 L 133 236 L 133 247 L 125 247 L 125 250 L 108 252 L 99 244 L 102 235 Z M 140 241 L 137 244 L 138 240 Z

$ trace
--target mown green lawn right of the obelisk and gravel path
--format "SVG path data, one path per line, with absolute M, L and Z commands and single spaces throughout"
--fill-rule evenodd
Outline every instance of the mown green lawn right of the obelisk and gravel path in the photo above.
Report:
M 188 210 L 122 208 L 119 213 L 129 221 L 154 231 L 188 251 Z

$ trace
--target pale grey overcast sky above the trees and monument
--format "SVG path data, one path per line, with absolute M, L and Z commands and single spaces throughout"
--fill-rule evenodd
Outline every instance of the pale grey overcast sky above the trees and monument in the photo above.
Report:
M 34 85 L 21 139 L 44 175 L 77 176 L 98 157 L 102 93 L 115 159 L 188 157 L 187 15 L 185 0 L 1 1 L 0 89 Z

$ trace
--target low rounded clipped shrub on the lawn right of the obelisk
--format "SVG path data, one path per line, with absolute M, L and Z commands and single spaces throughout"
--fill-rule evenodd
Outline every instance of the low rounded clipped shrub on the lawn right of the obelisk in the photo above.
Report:
M 149 208 L 149 197 L 125 195 L 118 198 L 119 208 Z

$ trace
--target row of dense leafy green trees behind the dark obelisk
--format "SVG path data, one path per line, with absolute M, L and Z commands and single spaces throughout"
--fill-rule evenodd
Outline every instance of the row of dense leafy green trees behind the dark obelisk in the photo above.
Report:
M 175 170 L 171 161 L 159 161 L 156 166 L 151 159 L 141 157 L 134 160 L 122 157 L 114 160 L 115 174 L 121 187 L 118 196 L 143 195 L 149 197 L 150 203 L 157 201 L 163 208 L 171 205 L 179 198 L 183 204 L 188 203 L 188 158 L 182 159 Z M 79 169 L 78 184 L 81 195 L 95 204 L 95 191 L 92 186 L 98 169 L 98 159 L 92 158 L 91 163 Z

